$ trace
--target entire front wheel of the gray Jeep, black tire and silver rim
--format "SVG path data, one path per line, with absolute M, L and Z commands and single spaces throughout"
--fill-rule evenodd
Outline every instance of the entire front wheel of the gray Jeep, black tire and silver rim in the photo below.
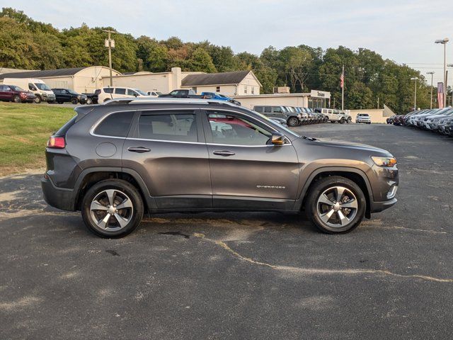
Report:
M 329 176 L 316 181 L 306 200 L 311 222 L 322 232 L 345 234 L 355 229 L 365 215 L 365 195 L 350 179 Z

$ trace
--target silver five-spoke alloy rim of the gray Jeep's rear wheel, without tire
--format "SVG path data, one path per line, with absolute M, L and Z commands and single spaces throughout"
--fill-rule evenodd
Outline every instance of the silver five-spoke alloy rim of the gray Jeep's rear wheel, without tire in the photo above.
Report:
M 108 189 L 93 198 L 90 213 L 99 228 L 114 232 L 127 226 L 132 220 L 134 208 L 125 193 Z

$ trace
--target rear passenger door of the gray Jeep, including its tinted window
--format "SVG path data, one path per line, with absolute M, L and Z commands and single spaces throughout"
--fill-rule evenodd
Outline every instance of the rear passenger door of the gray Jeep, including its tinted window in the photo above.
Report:
M 209 159 L 197 110 L 142 111 L 135 125 L 123 147 L 122 166 L 139 172 L 154 208 L 212 208 Z

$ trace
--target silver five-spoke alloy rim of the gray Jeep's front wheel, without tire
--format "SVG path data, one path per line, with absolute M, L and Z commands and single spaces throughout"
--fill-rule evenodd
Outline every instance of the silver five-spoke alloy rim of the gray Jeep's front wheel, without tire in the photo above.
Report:
M 316 202 L 316 212 L 328 227 L 343 229 L 357 215 L 359 205 L 350 189 L 344 186 L 332 186 L 321 193 Z

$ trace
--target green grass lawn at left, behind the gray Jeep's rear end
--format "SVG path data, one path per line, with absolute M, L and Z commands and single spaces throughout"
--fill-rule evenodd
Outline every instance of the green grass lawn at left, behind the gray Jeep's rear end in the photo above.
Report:
M 45 167 L 45 145 L 75 114 L 57 105 L 0 102 L 0 176 Z

